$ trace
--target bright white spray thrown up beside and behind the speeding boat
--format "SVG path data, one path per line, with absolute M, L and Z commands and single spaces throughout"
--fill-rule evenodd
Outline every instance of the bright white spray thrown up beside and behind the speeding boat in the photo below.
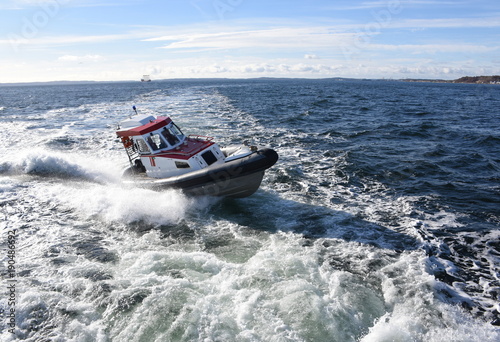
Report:
M 11 157 L 0 163 L 4 174 L 48 178 L 48 182 L 37 182 L 32 189 L 40 201 L 50 200 L 105 222 L 171 224 L 184 218 L 191 208 L 202 209 L 213 202 L 207 198 L 190 199 L 176 190 L 156 192 L 123 187 L 121 168 L 113 158 L 103 160 L 43 149 Z M 2 183 L 4 191 L 14 189 L 10 182 Z

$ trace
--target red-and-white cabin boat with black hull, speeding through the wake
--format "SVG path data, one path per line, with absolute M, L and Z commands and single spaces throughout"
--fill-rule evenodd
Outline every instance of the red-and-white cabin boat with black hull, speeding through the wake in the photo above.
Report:
M 153 190 L 182 189 L 194 196 L 242 198 L 260 187 L 276 151 L 255 146 L 220 147 L 209 136 L 189 135 L 168 116 L 137 114 L 118 126 L 130 166 L 123 182 Z

